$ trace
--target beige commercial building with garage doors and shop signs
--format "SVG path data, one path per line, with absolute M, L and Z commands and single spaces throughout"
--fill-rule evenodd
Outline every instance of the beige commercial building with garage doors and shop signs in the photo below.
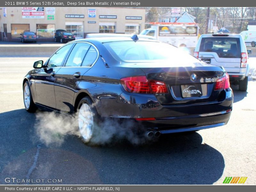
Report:
M 145 28 L 145 9 L 102 7 L 2 7 L 0 40 L 20 41 L 20 33 L 33 31 L 37 41 L 53 41 L 57 29 L 76 39 L 88 33 L 136 33 Z

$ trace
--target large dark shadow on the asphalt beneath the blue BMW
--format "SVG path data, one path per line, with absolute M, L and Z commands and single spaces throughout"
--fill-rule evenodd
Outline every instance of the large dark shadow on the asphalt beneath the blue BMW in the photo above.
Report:
M 69 135 L 56 146 L 40 141 L 37 118 L 25 109 L 0 114 L 1 184 L 26 184 L 6 183 L 6 177 L 62 179 L 36 184 L 213 184 L 225 167 L 221 153 L 202 143 L 200 132 L 162 135 L 139 145 L 116 140 L 93 147 Z

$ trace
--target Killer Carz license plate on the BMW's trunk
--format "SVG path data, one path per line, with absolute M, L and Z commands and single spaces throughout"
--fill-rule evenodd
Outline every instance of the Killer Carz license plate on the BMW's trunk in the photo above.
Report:
M 183 98 L 203 96 L 201 84 L 180 85 L 180 89 Z

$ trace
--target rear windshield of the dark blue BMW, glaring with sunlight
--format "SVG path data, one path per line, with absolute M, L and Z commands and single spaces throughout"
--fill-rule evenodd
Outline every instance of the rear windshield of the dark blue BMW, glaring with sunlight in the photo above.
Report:
M 155 62 L 156 60 L 188 60 L 198 62 L 196 58 L 173 45 L 154 41 L 115 41 L 104 43 L 116 60 L 127 62 Z

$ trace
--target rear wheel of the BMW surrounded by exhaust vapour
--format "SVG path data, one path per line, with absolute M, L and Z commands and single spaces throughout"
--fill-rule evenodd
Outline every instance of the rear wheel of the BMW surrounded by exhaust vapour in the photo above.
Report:
M 80 100 L 77 107 L 78 130 L 81 140 L 87 145 L 94 145 L 91 139 L 97 132 L 99 115 L 90 97 L 84 97 Z

